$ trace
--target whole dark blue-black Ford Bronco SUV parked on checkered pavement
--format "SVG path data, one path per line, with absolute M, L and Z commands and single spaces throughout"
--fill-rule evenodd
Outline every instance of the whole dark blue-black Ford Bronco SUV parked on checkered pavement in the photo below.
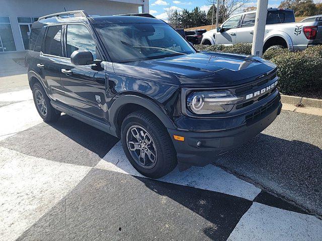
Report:
M 159 178 L 205 166 L 280 113 L 276 66 L 261 58 L 196 51 L 155 18 L 39 18 L 26 55 L 45 122 L 64 112 L 121 139 L 133 167 Z

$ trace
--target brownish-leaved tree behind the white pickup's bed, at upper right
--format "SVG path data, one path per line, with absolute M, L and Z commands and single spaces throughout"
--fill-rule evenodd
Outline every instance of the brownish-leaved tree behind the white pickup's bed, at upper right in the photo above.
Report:
M 295 17 L 312 16 L 317 12 L 313 0 L 284 0 L 281 2 L 279 8 L 292 9 Z

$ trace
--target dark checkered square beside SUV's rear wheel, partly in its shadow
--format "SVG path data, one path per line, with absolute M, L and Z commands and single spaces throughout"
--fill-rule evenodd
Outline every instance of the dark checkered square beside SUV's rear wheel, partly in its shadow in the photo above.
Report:
M 118 141 L 105 132 L 62 115 L 57 123 L 39 124 L 0 145 L 51 161 L 93 167 Z

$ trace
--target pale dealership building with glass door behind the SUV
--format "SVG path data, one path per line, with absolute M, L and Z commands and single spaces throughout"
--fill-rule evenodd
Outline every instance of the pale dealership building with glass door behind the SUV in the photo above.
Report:
M 28 49 L 30 27 L 38 17 L 72 10 L 89 15 L 148 13 L 148 0 L 0 0 L 0 53 Z

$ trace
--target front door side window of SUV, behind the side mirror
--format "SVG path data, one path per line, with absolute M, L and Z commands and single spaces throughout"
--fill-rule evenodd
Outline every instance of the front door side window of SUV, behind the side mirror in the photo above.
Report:
M 89 30 L 84 25 L 67 26 L 67 58 L 76 50 L 88 50 L 97 58 L 96 44 Z

